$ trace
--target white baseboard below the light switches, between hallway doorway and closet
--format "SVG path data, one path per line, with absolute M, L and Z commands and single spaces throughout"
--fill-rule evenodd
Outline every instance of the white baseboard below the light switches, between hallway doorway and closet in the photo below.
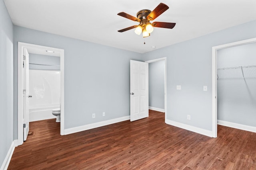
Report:
M 184 123 L 179 123 L 179 122 L 172 121 L 172 120 L 169 120 L 169 119 L 166 119 L 165 123 L 167 123 L 168 125 L 172 125 L 172 126 L 176 126 L 176 127 L 182 128 L 182 129 L 186 129 L 188 131 L 196 132 L 196 133 L 208 136 L 208 137 L 212 137 L 212 131 L 209 131 L 209 130 L 206 130 L 206 129 L 201 129 L 199 127 L 194 127 L 194 126 L 191 126 L 191 125 L 186 125 Z

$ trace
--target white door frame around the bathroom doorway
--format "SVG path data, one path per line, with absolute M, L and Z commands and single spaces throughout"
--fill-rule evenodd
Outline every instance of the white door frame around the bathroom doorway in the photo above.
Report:
M 36 49 L 40 51 L 54 51 L 60 54 L 60 135 L 64 135 L 64 49 L 34 45 L 29 43 L 18 42 L 18 145 L 23 144 L 23 95 L 22 95 L 22 61 L 23 48 Z M 49 54 L 50 55 L 50 54 Z

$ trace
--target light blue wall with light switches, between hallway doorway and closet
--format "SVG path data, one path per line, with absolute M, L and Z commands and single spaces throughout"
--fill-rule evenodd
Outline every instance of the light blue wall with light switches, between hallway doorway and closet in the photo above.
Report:
M 144 53 L 144 61 L 167 57 L 167 119 L 212 131 L 212 47 L 253 37 L 256 20 Z

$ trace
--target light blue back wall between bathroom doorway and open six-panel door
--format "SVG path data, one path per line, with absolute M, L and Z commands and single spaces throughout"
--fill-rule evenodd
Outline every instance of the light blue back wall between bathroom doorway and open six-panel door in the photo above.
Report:
M 65 129 L 130 115 L 130 59 L 140 53 L 14 26 L 14 139 L 18 41 L 64 49 Z

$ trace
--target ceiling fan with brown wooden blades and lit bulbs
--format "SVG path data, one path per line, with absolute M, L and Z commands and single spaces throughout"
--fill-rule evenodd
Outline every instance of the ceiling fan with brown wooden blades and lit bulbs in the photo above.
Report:
M 161 28 L 170 28 L 172 29 L 176 23 L 170 23 L 170 22 L 153 22 L 150 23 L 150 21 L 156 19 L 158 16 L 160 16 L 163 12 L 168 10 L 169 7 L 164 4 L 160 3 L 153 11 L 150 10 L 140 10 L 137 13 L 137 18 L 134 16 L 131 16 L 129 14 L 126 14 L 125 12 L 120 12 L 117 15 L 122 16 L 124 18 L 128 18 L 132 21 L 137 21 L 140 24 L 139 25 L 133 25 L 131 27 L 127 27 L 124 29 L 118 30 L 118 32 L 124 32 L 128 31 L 130 29 L 136 28 L 135 33 L 140 35 L 142 32 L 143 37 L 150 36 L 150 33 L 154 30 L 153 27 L 161 27 Z

